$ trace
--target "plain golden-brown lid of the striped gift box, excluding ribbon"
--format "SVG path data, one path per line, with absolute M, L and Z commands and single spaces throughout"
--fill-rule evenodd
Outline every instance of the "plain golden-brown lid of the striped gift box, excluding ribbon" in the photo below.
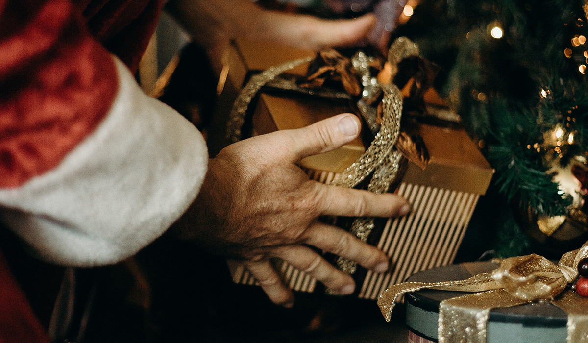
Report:
M 275 129 L 301 128 L 349 111 L 349 106 L 333 104 L 325 99 L 262 94 L 253 116 L 253 126 L 256 133 L 263 134 Z M 465 131 L 422 124 L 417 133 L 422 136 L 429 152 L 429 164 L 423 170 L 409 163 L 403 182 L 485 194 L 493 169 Z M 342 172 L 365 149 L 362 141 L 355 139 L 339 149 L 305 158 L 300 165 L 309 169 Z

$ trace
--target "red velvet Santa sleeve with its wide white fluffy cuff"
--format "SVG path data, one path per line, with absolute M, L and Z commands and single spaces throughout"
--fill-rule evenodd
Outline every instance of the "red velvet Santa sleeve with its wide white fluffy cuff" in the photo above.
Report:
M 208 161 L 198 130 L 143 94 L 86 21 L 70 0 L 0 0 L 0 221 L 79 266 L 159 237 Z

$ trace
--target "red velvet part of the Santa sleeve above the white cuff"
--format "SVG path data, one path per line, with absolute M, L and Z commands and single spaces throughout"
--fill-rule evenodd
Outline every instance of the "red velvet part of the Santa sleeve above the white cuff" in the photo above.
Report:
M 55 168 L 108 113 L 162 0 L 0 0 L 0 188 Z

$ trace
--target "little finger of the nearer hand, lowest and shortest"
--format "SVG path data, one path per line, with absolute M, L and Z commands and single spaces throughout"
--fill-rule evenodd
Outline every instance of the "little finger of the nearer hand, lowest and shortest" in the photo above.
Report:
M 253 277 L 259 282 L 265 294 L 274 304 L 288 308 L 292 307 L 294 304 L 292 291 L 283 285 L 282 279 L 280 279 L 269 261 L 243 261 L 243 264 L 253 274 Z

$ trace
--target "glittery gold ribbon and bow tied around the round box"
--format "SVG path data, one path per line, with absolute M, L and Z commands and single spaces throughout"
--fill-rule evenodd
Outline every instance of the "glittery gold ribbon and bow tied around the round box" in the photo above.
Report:
M 547 301 L 567 313 L 567 343 L 588 343 L 588 298 L 570 289 L 584 257 L 588 242 L 564 254 L 557 265 L 535 254 L 506 258 L 493 272 L 465 280 L 393 285 L 380 295 L 377 305 L 390 321 L 396 298 L 407 292 L 423 288 L 475 292 L 441 302 L 437 334 L 439 343 L 485 343 L 491 309 Z

